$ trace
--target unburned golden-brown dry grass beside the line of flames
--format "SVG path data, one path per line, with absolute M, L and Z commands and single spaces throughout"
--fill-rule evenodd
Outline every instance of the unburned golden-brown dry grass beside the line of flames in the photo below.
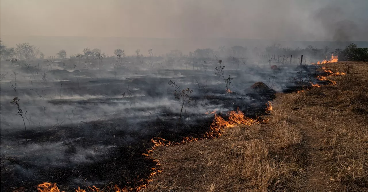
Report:
M 278 94 L 268 123 L 158 148 L 163 173 L 144 191 L 368 191 L 368 65 L 325 66 L 347 75 Z

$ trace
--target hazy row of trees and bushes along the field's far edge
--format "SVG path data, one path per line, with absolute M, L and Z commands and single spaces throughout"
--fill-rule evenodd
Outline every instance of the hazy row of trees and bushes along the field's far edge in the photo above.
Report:
M 148 54 L 142 54 L 141 50 L 137 49 L 135 51 L 136 55 L 131 55 L 127 57 L 153 57 L 152 49 L 148 50 Z M 338 55 L 340 61 L 368 61 L 368 48 L 358 48 L 357 44 L 352 43 L 344 49 L 337 48 L 332 50 L 332 48 L 325 46 L 323 48 L 317 48 L 314 46 L 307 46 L 305 48 L 289 48 L 283 47 L 280 44 L 273 44 L 265 48 L 253 48 L 248 50 L 247 47 L 243 46 L 232 46 L 226 48 L 225 46 L 220 46 L 217 50 L 212 48 L 197 49 L 193 52 L 189 52 L 188 55 L 183 54 L 180 50 L 171 50 L 166 55 L 160 55 L 160 57 L 166 58 L 249 58 L 258 56 L 262 58 L 265 55 L 306 55 L 315 59 L 322 59 L 330 57 L 331 55 Z M 55 54 L 59 59 L 66 59 L 67 52 L 65 50 L 60 50 Z M 105 53 L 103 53 L 98 48 L 85 48 L 82 54 L 70 55 L 69 58 L 106 58 Z M 126 57 L 125 51 L 121 49 L 116 49 L 114 54 L 110 57 L 124 58 Z M 7 60 L 11 58 L 17 58 L 18 60 L 29 60 L 29 59 L 44 59 L 45 55 L 39 50 L 38 47 L 33 46 L 29 43 L 16 44 L 15 47 L 7 47 L 0 40 L 0 61 Z M 54 58 L 54 57 L 50 57 Z

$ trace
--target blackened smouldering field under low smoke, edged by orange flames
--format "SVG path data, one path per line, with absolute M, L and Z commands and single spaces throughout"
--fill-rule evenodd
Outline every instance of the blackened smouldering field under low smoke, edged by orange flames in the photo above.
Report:
M 27 48 L 33 50 L 27 58 L 1 61 L 5 191 L 137 191 L 163 171 L 152 156 L 159 146 L 212 142 L 239 124 L 266 123 L 277 93 L 334 84 L 320 65 L 253 57 L 241 46 L 230 48 L 240 49 L 238 57 L 221 59 L 210 57 L 211 49 L 189 56 L 174 50 L 164 57 L 153 49 L 147 56 L 117 49 L 107 57 L 90 48 L 45 59 Z M 364 113 L 364 101 L 351 99 L 354 110 Z

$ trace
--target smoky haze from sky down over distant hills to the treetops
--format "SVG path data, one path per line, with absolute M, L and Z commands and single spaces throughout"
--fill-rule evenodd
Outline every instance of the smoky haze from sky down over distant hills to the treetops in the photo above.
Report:
M 29 42 L 46 56 L 85 47 L 109 55 L 116 48 L 159 55 L 272 43 L 320 47 L 311 41 L 368 41 L 366 7 L 365 0 L 1 0 L 0 38 L 9 47 Z

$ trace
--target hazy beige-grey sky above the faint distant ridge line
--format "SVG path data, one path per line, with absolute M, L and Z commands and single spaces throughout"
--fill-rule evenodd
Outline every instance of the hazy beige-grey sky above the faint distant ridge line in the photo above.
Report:
M 367 0 L 0 0 L 0 35 L 368 40 Z

